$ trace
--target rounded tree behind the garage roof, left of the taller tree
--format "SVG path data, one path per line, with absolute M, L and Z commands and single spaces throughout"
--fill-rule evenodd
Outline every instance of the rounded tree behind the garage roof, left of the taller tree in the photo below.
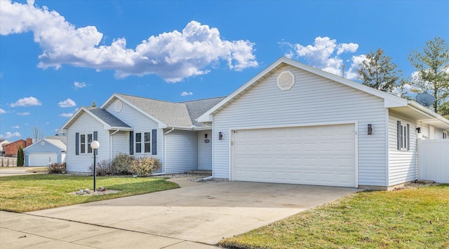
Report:
M 396 70 L 398 66 L 391 62 L 391 57 L 384 55 L 384 50 L 380 48 L 376 52 L 370 51 L 360 66 L 357 70 L 360 75 L 358 79 L 368 87 L 384 92 L 398 92 L 405 83 L 405 80 L 400 80 L 402 71 Z

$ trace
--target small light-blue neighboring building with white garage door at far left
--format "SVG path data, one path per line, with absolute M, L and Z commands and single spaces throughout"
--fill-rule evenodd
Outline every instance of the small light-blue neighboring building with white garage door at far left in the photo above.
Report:
M 48 136 L 25 148 L 25 166 L 48 166 L 65 162 L 65 136 Z

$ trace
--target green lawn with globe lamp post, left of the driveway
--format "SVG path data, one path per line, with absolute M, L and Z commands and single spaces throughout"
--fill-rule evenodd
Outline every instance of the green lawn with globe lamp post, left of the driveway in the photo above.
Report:
M 92 190 L 93 176 L 37 174 L 1 177 L 0 210 L 24 213 L 179 187 L 163 178 L 132 177 L 97 177 L 96 185 L 121 192 L 98 196 L 69 194 L 86 188 Z

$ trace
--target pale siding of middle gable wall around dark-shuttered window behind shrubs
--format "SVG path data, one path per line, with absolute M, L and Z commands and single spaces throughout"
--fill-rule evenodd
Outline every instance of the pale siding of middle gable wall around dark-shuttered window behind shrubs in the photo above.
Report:
M 154 120 L 148 118 L 146 115 L 143 115 L 139 111 L 135 110 L 135 108 L 129 106 L 128 104 L 124 103 L 122 101 L 123 107 L 121 111 L 117 112 L 114 108 L 114 101 L 115 99 L 112 99 L 109 106 L 105 106 L 106 111 L 111 113 L 112 115 L 119 118 L 119 120 L 126 123 L 126 125 L 129 125 L 130 127 L 133 127 L 134 134 L 141 132 L 152 132 L 152 129 L 157 129 L 157 155 L 152 155 L 152 152 L 149 153 L 135 153 L 134 155 L 136 157 L 156 157 L 161 160 L 163 163 L 163 131 L 162 129 L 158 129 L 159 125 Z M 123 152 L 126 152 L 126 154 L 129 153 L 129 131 L 126 131 L 124 135 L 118 135 L 119 133 L 114 134 L 114 138 L 112 139 L 114 145 L 112 145 L 113 149 L 116 149 L 117 151 L 123 150 Z M 115 138 L 115 136 L 117 136 Z M 124 137 L 123 137 L 124 136 Z M 135 136 L 135 135 L 134 135 Z M 124 144 L 115 144 L 115 143 L 122 143 L 121 141 L 124 140 Z M 142 147 L 143 148 L 143 147 Z M 115 151 L 112 151 L 113 158 L 116 155 Z

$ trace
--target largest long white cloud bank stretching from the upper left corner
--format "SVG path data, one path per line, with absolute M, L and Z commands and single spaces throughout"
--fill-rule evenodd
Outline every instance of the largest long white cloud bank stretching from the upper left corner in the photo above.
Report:
M 227 41 L 217 28 L 196 21 L 189 22 L 182 31 L 149 36 L 134 49 L 126 48 L 125 38 L 99 45 L 103 34 L 95 26 L 76 28 L 55 10 L 39 8 L 32 1 L 0 1 L 0 24 L 4 36 L 33 32 L 34 42 L 43 50 L 38 64 L 43 69 L 70 64 L 98 71 L 112 69 L 118 78 L 156 74 L 168 82 L 177 82 L 206 74 L 206 67 L 220 61 L 235 71 L 258 66 L 254 43 Z

